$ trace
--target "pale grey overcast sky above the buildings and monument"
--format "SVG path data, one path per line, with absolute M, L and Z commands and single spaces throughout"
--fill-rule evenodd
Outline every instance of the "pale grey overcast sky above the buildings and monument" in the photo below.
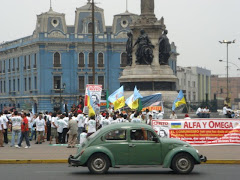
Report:
M 52 0 L 53 10 L 66 15 L 73 25 L 75 10 L 87 0 Z M 106 25 L 113 16 L 125 12 L 126 0 L 95 0 L 104 9 Z M 141 0 L 128 0 L 128 10 L 140 14 Z M 29 36 L 35 29 L 36 15 L 49 10 L 50 0 L 0 0 L 0 42 Z M 162 16 L 170 41 L 177 45 L 179 66 L 199 66 L 212 74 L 226 75 L 226 45 L 220 40 L 234 40 L 229 46 L 229 62 L 240 67 L 240 0 L 155 0 L 155 13 Z M 230 65 L 230 64 L 229 64 Z M 240 76 L 230 65 L 230 76 Z

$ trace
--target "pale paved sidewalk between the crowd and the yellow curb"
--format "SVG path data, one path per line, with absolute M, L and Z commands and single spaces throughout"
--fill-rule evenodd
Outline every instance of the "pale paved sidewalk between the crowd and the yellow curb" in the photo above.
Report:
M 0 148 L 1 160 L 67 160 L 69 155 L 75 155 L 77 148 L 67 148 L 63 146 L 51 146 L 48 142 L 43 144 L 34 144 L 31 142 L 31 148 L 5 147 Z M 240 160 L 240 145 L 239 146 L 196 146 L 200 154 L 206 156 L 208 160 Z M 0 162 L 1 163 L 1 162 Z

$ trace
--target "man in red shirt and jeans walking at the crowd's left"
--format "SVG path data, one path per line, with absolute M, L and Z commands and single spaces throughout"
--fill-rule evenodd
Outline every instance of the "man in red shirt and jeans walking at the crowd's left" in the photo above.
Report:
M 23 141 L 23 139 L 25 139 L 25 141 L 26 141 L 26 144 L 27 144 L 27 146 L 25 147 L 25 149 L 28 149 L 28 148 L 30 148 L 31 146 L 30 146 L 30 142 L 29 142 L 29 139 L 28 139 L 28 119 L 27 119 L 27 115 L 26 115 L 26 113 L 24 113 L 23 115 L 22 115 L 22 118 L 23 118 L 23 120 L 22 120 L 22 123 L 21 123 L 21 138 L 20 138 L 20 142 L 18 143 L 18 145 L 16 146 L 17 148 L 20 148 L 21 147 L 21 144 L 22 144 L 22 141 Z

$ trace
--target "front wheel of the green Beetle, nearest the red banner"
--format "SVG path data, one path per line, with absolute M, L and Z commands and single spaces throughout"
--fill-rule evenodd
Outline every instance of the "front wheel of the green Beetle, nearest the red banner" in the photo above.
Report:
M 189 174 L 194 168 L 194 160 L 191 155 L 187 153 L 179 153 L 174 156 L 171 164 L 171 169 L 175 173 Z

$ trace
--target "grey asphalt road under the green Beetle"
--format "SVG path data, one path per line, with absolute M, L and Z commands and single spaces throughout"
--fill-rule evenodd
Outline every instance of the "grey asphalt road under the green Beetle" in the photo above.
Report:
M 110 169 L 105 175 L 92 175 L 87 168 L 68 167 L 67 164 L 1 164 L 0 179 L 4 180 L 71 180 L 71 179 L 177 179 L 177 180 L 227 180 L 239 179 L 240 165 L 197 165 L 189 175 L 174 174 L 170 169 L 120 168 Z

